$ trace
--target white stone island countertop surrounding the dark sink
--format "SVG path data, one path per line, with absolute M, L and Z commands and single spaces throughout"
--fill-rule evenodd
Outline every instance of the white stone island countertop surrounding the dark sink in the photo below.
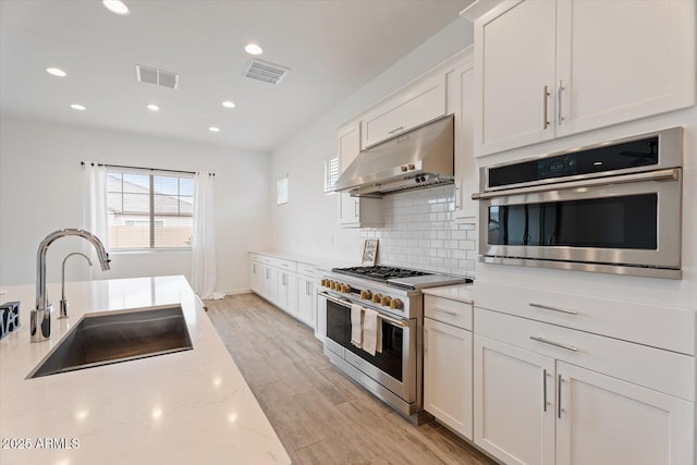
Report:
M 66 283 L 60 320 L 49 284 L 52 334 L 39 343 L 35 287 L 4 291 L 1 302 L 22 302 L 22 327 L 0 341 L 0 463 L 291 463 L 184 277 Z M 25 379 L 83 314 L 167 304 L 181 304 L 194 350 Z

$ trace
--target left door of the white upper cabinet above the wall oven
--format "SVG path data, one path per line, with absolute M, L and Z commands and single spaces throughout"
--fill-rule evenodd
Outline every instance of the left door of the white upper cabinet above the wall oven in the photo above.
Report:
M 555 13 L 553 0 L 505 2 L 476 22 L 477 156 L 554 136 Z

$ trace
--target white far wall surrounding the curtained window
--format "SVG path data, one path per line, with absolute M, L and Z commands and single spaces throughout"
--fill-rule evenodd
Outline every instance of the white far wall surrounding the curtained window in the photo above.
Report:
M 249 287 L 246 253 L 267 247 L 271 238 L 268 154 L 8 118 L 0 120 L 0 285 L 33 283 L 39 242 L 51 231 L 83 227 L 80 162 L 91 160 L 216 172 L 216 290 Z M 64 237 L 51 245 L 49 282 L 60 280 L 65 254 L 87 250 L 83 242 Z M 191 274 L 191 252 L 111 253 L 111 271 L 95 271 L 96 278 Z M 78 258 L 65 269 L 68 280 L 89 277 Z

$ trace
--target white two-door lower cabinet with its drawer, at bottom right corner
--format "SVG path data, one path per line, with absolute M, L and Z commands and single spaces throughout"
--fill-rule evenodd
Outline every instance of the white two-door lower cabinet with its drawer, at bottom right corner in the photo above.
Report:
M 505 464 L 694 465 L 688 357 L 612 341 L 477 308 L 475 444 Z

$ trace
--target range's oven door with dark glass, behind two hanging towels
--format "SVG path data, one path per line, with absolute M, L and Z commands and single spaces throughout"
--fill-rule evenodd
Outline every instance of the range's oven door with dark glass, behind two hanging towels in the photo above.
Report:
M 325 346 L 408 403 L 417 400 L 417 320 L 378 313 L 382 325 L 382 352 L 375 356 L 351 344 L 351 302 L 327 292 Z

